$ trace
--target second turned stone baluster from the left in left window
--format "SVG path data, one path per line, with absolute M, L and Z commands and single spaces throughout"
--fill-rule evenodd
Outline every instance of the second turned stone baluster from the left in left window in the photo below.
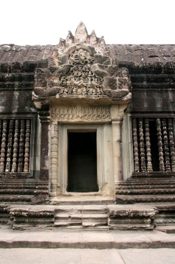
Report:
M 11 119 L 9 122 L 6 172 L 10 172 L 10 170 L 11 170 L 13 127 L 14 127 L 14 119 Z

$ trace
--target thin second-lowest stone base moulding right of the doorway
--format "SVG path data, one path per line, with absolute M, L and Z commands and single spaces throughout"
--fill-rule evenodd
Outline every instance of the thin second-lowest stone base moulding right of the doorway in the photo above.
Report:
M 175 189 L 116 190 L 116 195 L 175 195 Z

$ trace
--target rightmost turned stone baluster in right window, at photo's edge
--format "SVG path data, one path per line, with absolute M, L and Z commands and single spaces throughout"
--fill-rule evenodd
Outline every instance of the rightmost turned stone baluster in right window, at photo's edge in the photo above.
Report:
M 175 147 L 174 147 L 174 131 L 172 118 L 168 118 L 168 131 L 169 131 L 169 147 L 172 158 L 172 172 L 175 172 Z

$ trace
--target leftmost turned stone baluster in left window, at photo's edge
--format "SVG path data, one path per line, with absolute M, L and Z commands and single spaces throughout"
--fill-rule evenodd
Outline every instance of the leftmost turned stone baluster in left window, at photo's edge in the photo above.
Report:
M 4 170 L 5 170 L 7 125 L 8 125 L 8 121 L 3 120 L 3 131 L 2 131 L 2 140 L 1 140 L 0 172 L 4 172 Z

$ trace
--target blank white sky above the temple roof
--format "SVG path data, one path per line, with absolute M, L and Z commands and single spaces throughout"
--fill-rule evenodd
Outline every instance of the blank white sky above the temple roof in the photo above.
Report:
M 175 44 L 175 0 L 0 0 L 0 44 L 57 44 L 80 21 L 107 44 Z

